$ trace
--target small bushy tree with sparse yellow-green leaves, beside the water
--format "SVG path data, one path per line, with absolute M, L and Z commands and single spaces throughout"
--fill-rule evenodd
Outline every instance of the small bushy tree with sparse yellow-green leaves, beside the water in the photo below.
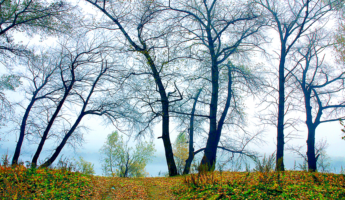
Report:
M 154 144 L 139 142 L 135 148 L 128 146 L 117 131 L 107 136 L 101 147 L 100 162 L 103 175 L 117 177 L 144 177 L 145 166 L 154 157 Z

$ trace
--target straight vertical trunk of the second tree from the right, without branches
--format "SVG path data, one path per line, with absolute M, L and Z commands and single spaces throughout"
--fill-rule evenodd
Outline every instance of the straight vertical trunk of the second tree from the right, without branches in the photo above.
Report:
M 284 171 L 284 104 L 285 104 L 285 44 L 282 45 L 279 62 L 279 100 L 278 100 L 278 123 L 277 123 L 277 156 L 276 170 Z

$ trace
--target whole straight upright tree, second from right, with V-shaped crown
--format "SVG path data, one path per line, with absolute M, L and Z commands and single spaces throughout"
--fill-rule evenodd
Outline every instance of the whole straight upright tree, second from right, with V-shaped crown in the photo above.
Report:
M 284 171 L 284 110 L 285 81 L 292 70 L 286 64 L 291 48 L 317 22 L 327 20 L 330 11 L 342 1 L 319 0 L 254 0 L 254 3 L 267 10 L 272 18 L 272 27 L 280 40 L 278 71 L 278 120 L 276 169 Z

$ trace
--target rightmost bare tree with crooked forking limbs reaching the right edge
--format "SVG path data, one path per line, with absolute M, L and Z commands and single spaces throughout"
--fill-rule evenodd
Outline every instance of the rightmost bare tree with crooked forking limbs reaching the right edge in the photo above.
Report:
M 322 51 L 331 45 L 329 33 L 319 30 L 307 35 L 307 43 L 295 51 L 296 70 L 292 72 L 295 83 L 304 99 L 304 112 L 308 127 L 308 170 L 315 172 L 315 129 L 321 123 L 344 120 L 345 101 L 339 99 L 345 90 L 345 71 L 324 61 Z M 296 94 L 297 96 L 298 94 Z

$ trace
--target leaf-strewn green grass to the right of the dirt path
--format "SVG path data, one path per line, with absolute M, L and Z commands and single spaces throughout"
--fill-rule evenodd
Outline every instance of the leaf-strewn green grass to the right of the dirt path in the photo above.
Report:
M 304 171 L 214 172 L 185 177 L 181 200 L 345 200 L 345 176 Z

